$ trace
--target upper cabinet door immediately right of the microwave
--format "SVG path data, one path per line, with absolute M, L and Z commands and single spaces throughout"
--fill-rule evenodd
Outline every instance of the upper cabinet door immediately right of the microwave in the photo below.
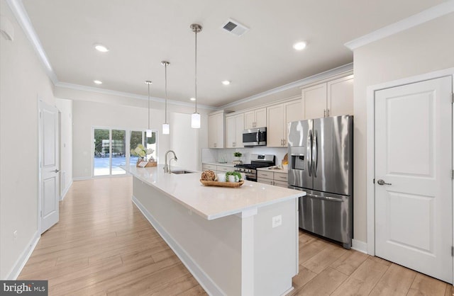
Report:
M 267 146 L 282 147 L 284 144 L 284 107 L 282 104 L 267 108 Z

